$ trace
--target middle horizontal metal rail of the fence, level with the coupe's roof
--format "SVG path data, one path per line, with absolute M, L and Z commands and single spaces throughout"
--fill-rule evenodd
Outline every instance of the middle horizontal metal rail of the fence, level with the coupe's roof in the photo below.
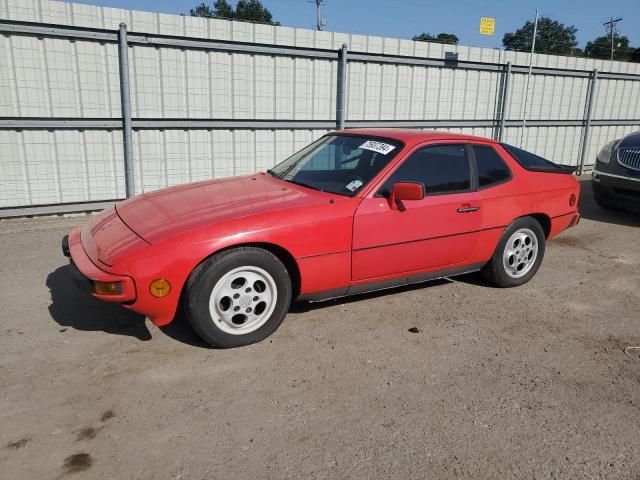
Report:
M 217 119 L 143 119 L 132 120 L 134 130 L 333 130 L 335 120 L 217 120 Z M 483 120 L 347 120 L 346 128 L 474 128 L 494 127 L 494 119 Z M 521 127 L 522 120 L 505 120 L 505 127 Z M 638 120 L 592 120 L 593 126 L 640 126 Z M 585 121 L 530 120 L 531 127 L 582 127 Z M 119 118 L 0 118 L 0 130 L 120 130 Z

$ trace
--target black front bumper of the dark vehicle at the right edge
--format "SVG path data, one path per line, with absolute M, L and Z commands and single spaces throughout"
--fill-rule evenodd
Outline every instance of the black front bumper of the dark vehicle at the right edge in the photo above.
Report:
M 640 178 L 594 170 L 593 194 L 606 205 L 640 212 Z

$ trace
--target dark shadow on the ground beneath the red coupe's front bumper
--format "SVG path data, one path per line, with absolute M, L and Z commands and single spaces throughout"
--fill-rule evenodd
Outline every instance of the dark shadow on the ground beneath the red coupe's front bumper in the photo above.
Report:
M 128 335 L 142 341 L 151 339 L 142 315 L 81 292 L 68 265 L 51 272 L 46 284 L 51 293 L 49 313 L 61 327 Z

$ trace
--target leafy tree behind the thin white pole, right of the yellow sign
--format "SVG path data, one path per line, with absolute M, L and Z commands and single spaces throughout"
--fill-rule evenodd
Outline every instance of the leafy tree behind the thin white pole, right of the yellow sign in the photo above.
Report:
M 573 25 L 566 26 L 549 17 L 540 17 L 536 35 L 536 52 L 553 55 L 571 55 L 578 46 Z M 505 33 L 502 45 L 507 50 L 530 51 L 533 38 L 533 22 L 526 22 L 514 33 Z

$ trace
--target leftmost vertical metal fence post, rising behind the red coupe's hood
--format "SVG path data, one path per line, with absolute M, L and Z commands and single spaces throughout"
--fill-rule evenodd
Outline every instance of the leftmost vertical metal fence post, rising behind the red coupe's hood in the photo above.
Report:
M 118 30 L 118 59 L 120 65 L 120 106 L 122 109 L 122 146 L 124 148 L 124 185 L 127 198 L 135 194 L 133 180 L 133 134 L 131 129 L 131 92 L 129 88 L 129 44 L 127 25 Z

